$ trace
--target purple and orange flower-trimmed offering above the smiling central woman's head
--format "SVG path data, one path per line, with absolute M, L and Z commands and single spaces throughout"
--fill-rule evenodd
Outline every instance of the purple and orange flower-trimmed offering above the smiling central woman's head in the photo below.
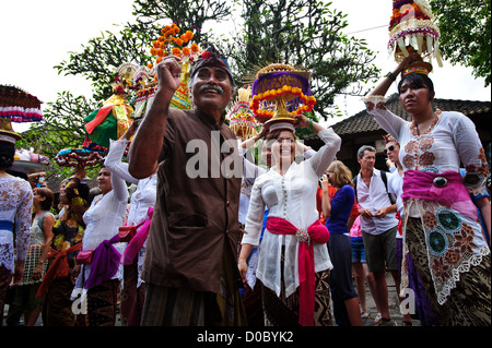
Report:
M 309 88 L 311 73 L 289 64 L 270 64 L 261 69 L 253 84 L 250 108 L 256 119 L 266 123 L 294 122 L 295 115 L 309 112 L 316 104 Z

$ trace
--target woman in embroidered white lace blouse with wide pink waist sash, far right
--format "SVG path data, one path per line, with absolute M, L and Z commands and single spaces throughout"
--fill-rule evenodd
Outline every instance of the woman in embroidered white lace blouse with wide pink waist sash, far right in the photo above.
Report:
M 430 69 L 432 65 L 412 51 L 364 101 L 379 125 L 400 144 L 403 236 L 440 324 L 489 326 L 490 249 L 483 233 L 490 233 L 490 215 L 489 230 L 482 231 L 470 199 L 470 194 L 485 191 L 485 153 L 470 119 L 433 109 Z M 384 95 L 400 73 L 398 94 L 410 122 L 384 104 Z M 461 163 L 467 169 L 464 179 Z M 483 203 L 489 204 L 490 213 L 490 203 Z M 406 280 L 403 274 L 402 289 Z

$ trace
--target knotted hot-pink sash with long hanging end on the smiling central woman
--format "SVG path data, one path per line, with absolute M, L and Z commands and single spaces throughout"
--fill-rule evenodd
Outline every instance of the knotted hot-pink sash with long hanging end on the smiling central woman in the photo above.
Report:
M 305 232 L 288 220 L 274 216 L 268 217 L 267 229 L 273 235 L 295 235 L 300 241 L 297 260 L 300 283 L 298 323 L 303 326 L 313 326 L 316 291 L 313 242 L 328 242 L 328 229 L 319 220 L 316 220 Z

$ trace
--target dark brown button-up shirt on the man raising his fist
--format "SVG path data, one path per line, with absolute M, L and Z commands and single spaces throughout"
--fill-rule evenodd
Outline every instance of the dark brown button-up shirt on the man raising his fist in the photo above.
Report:
M 242 161 L 236 136 L 199 110 L 172 109 L 164 137 L 142 278 L 220 293 L 224 247 L 236 260 L 239 242 L 242 170 L 234 166 Z M 230 152 L 229 144 L 234 145 Z

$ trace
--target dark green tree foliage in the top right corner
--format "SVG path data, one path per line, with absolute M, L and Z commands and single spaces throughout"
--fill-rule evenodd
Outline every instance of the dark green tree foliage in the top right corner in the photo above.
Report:
M 443 57 L 491 83 L 491 0 L 433 0 Z

